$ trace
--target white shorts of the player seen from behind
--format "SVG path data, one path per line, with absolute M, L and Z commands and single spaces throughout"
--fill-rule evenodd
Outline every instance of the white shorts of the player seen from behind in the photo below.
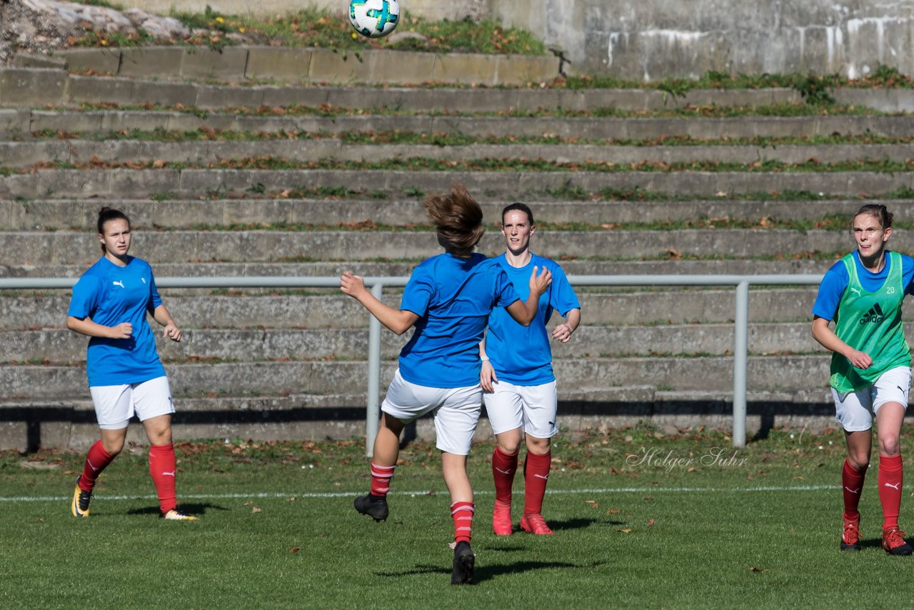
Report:
M 435 414 L 435 446 L 454 455 L 469 455 L 479 414 L 483 411 L 483 388 L 478 383 L 465 388 L 429 388 L 404 380 L 399 369 L 390 382 L 381 411 L 409 423 L 427 412 Z

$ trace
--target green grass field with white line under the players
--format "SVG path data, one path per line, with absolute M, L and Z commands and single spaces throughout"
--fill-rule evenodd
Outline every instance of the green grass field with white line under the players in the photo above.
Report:
M 834 431 L 775 431 L 739 450 L 717 431 L 560 435 L 544 507 L 554 537 L 494 536 L 491 451 L 471 455 L 476 574 L 461 587 L 450 584 L 449 500 L 430 444 L 402 452 L 384 523 L 352 508 L 367 490 L 360 441 L 179 444 L 178 494 L 197 522 L 156 518 L 143 447 L 101 477 L 90 519 L 69 514 L 81 454 L 6 452 L 0 605 L 880 607 L 908 604 L 914 589 L 914 557 L 879 547 L 875 464 L 864 548 L 838 551 Z M 902 528 L 914 522 L 909 496 Z

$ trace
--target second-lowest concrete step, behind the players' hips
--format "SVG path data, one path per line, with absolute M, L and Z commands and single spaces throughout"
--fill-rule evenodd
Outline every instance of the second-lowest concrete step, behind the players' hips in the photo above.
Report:
M 386 387 L 397 363 L 383 360 Z M 363 391 L 365 361 L 288 361 L 240 363 L 175 363 L 167 366 L 175 397 L 333 393 L 340 388 Z M 824 387 L 829 357 L 758 356 L 749 358 L 747 388 L 752 391 L 793 391 Z M 556 376 L 566 389 L 650 385 L 662 390 L 732 391 L 733 360 L 728 357 L 560 359 Z M 72 400 L 85 391 L 81 366 L 0 367 L 0 400 Z

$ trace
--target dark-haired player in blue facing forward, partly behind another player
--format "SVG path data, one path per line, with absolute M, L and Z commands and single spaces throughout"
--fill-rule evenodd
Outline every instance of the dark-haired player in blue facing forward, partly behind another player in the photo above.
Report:
M 502 210 L 506 249 L 495 261 L 508 273 L 521 297 L 526 296 L 523 278 L 531 267 L 548 269 L 552 273 L 552 285 L 539 297 L 537 317 L 529 326 L 516 324 L 505 315 L 504 309 L 494 309 L 480 345 L 483 359 L 480 382 L 496 441 L 492 455 L 495 483 L 492 529 L 499 536 L 512 533 L 511 487 L 520 445 L 525 439 L 524 514 L 520 527 L 534 534 L 552 534 L 542 516 L 552 462 L 549 439 L 558 433 L 556 376 L 552 371 L 546 325 L 553 310 L 564 317 L 565 322 L 556 326 L 551 335 L 565 343 L 580 324 L 578 297 L 562 268 L 557 262 L 530 251 L 530 238 L 536 231 L 533 211 L 526 204 L 512 203 Z

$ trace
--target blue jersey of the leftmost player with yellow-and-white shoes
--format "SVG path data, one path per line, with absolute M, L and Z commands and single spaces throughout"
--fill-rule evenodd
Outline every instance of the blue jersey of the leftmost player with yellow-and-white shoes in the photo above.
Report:
M 148 262 L 130 257 L 119 267 L 105 257 L 83 273 L 73 286 L 68 316 L 90 318 L 101 326 L 133 325 L 125 339 L 91 337 L 86 351 L 90 386 L 140 383 L 165 375 L 155 351 L 153 329 L 146 314 L 162 305 Z

